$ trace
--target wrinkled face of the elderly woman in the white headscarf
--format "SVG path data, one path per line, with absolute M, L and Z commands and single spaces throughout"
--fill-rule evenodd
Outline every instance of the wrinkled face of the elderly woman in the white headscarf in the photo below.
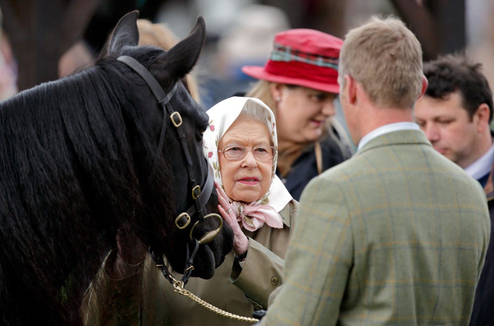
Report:
M 218 150 L 226 146 L 242 145 L 252 149 L 271 145 L 268 127 L 258 120 L 239 117 L 218 143 Z M 234 201 L 250 203 L 261 199 L 271 186 L 273 159 L 256 160 L 251 150 L 238 161 L 230 161 L 218 152 L 221 180 L 226 194 Z

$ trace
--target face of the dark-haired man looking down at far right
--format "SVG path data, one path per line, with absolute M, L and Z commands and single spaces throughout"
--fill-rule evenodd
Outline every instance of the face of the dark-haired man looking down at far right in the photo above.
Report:
M 457 92 L 446 100 L 424 95 L 415 103 L 415 121 L 434 149 L 466 168 L 476 159 L 477 126 L 461 102 Z

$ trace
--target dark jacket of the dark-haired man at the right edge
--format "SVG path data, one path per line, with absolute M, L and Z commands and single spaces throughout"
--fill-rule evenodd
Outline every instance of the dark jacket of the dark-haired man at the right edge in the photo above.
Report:
M 470 325 L 494 325 L 494 166 L 484 191 L 490 215 L 490 240 L 485 263 L 475 291 Z

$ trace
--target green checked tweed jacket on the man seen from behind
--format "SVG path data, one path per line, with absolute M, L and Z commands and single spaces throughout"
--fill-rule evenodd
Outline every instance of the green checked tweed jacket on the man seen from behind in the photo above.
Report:
M 315 178 L 297 221 L 262 325 L 468 324 L 485 194 L 421 131 L 378 136 Z

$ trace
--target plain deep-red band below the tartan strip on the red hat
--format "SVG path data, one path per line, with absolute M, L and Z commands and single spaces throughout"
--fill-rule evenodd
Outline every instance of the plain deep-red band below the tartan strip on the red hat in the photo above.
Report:
M 280 77 L 338 85 L 338 70 L 330 67 L 321 67 L 300 61 L 268 60 L 264 69 L 266 72 Z

